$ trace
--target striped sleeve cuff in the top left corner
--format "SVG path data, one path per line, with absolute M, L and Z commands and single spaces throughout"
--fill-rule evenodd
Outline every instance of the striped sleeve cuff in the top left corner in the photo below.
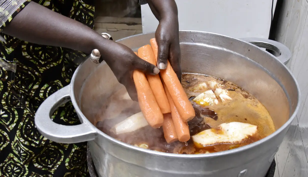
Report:
M 0 0 L 0 32 L 31 0 Z

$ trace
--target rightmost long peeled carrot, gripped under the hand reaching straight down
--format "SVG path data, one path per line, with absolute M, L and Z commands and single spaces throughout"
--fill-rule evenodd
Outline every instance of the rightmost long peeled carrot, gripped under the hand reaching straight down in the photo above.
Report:
M 151 39 L 150 43 L 152 45 L 151 47 L 152 47 L 153 52 L 157 51 L 157 44 L 156 44 L 155 38 Z M 164 83 L 166 84 L 167 89 L 171 95 L 171 98 L 176 106 L 176 109 L 180 113 L 182 119 L 184 121 L 189 121 L 193 119 L 195 117 L 195 110 L 193 109 L 193 106 L 189 102 L 188 97 L 176 73 L 173 71 L 169 61 L 167 63 L 166 69 L 160 71 L 160 76 L 163 79 Z

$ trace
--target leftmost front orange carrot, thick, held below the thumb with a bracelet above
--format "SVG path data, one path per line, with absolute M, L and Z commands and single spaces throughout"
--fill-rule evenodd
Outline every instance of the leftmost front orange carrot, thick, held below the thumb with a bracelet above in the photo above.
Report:
M 163 125 L 164 117 L 156 102 L 145 74 L 141 71 L 135 70 L 133 72 L 133 79 L 136 86 L 138 102 L 142 114 L 148 121 L 149 125 L 151 125 L 153 128 L 159 128 Z

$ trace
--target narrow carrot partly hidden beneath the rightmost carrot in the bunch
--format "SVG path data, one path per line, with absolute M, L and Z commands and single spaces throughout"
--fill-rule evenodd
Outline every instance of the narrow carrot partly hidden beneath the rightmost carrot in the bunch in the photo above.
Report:
M 187 122 L 184 122 L 184 120 L 181 118 L 165 84 L 164 84 L 164 88 L 167 94 L 167 98 L 169 100 L 169 104 L 171 106 L 171 116 L 172 116 L 174 127 L 176 129 L 177 137 L 179 141 L 181 142 L 188 141 L 190 139 L 188 124 Z

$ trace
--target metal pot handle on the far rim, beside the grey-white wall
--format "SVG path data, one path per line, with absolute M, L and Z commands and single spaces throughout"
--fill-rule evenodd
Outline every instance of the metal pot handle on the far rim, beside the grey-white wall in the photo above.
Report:
M 246 42 L 254 44 L 257 47 L 275 51 L 279 55 L 276 56 L 278 60 L 280 60 L 284 64 L 287 64 L 292 56 L 291 51 L 287 46 L 274 40 L 255 38 L 255 37 L 241 38 L 240 40 L 244 40 Z

